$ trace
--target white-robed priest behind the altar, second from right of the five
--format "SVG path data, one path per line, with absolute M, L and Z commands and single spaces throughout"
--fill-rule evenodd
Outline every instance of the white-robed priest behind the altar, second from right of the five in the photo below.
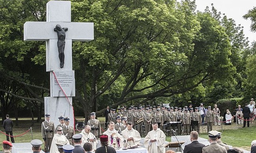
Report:
M 132 122 L 127 122 L 127 127 L 122 131 L 122 135 L 126 141 L 125 147 L 137 145 L 141 141 L 139 132 L 132 128 Z

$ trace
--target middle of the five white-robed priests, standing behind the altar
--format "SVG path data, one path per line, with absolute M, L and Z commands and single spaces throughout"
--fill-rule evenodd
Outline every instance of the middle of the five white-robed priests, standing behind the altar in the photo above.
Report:
M 117 147 L 123 148 L 124 147 L 124 139 L 123 137 L 118 133 L 117 130 L 115 130 L 115 123 L 114 122 L 108 122 L 108 129 L 103 134 L 106 134 L 108 136 L 108 142 L 112 145 L 113 143 L 117 144 Z

